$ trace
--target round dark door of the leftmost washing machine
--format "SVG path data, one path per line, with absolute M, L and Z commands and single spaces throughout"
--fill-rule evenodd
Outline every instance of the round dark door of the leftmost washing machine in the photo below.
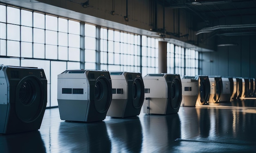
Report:
M 23 122 L 33 122 L 45 109 L 47 93 L 43 83 L 30 75 L 20 80 L 16 87 L 16 114 Z

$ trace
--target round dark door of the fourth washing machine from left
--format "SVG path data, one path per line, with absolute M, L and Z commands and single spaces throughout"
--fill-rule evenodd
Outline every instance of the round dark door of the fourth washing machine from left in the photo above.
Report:
M 168 95 L 171 95 L 171 106 L 173 109 L 180 108 L 180 103 L 182 100 L 182 86 L 181 81 L 178 78 L 173 79 L 171 83 L 171 90 L 168 90 Z

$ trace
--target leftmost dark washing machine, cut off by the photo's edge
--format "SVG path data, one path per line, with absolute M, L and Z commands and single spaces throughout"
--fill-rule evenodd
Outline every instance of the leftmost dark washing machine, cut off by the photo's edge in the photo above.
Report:
M 47 104 L 41 68 L 0 66 L 0 133 L 40 129 Z

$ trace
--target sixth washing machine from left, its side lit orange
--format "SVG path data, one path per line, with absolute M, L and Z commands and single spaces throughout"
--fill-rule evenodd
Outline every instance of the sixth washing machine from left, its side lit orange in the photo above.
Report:
M 220 76 L 208 76 L 210 81 L 209 105 L 218 105 L 222 95 L 222 79 Z

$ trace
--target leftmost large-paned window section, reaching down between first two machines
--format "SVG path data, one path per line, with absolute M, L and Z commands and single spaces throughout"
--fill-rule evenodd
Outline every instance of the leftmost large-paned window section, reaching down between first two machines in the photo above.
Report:
M 5 5 L 0 13 L 0 64 L 43 68 L 47 107 L 57 106 L 57 75 L 80 68 L 80 23 Z

